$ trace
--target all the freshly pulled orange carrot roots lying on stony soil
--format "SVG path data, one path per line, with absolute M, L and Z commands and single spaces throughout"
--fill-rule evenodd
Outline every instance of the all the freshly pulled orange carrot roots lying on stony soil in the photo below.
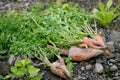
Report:
M 69 51 L 60 49 L 60 54 L 68 55 L 72 58 L 72 61 L 78 62 L 90 59 L 103 53 L 111 55 L 111 53 L 108 53 L 108 51 L 105 50 L 106 48 L 107 46 L 105 45 L 102 39 L 102 33 L 100 32 L 93 38 L 83 38 L 83 42 L 78 44 L 78 47 L 73 46 L 69 49 Z M 65 80 L 72 80 L 72 75 L 68 71 L 64 59 L 59 54 L 56 56 L 58 57 L 58 60 L 53 63 L 48 60 L 45 54 L 41 54 L 37 58 L 49 66 L 52 73 L 64 78 Z

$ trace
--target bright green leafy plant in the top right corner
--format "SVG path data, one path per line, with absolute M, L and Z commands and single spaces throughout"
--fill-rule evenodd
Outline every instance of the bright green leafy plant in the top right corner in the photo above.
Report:
M 113 4 L 112 0 L 108 0 L 107 4 L 104 5 L 102 2 L 99 3 L 99 9 L 93 9 L 93 16 L 99 20 L 100 24 L 106 26 L 112 22 L 116 17 L 120 16 L 120 12 L 117 9 L 120 8 L 120 4 L 116 7 L 111 7 Z

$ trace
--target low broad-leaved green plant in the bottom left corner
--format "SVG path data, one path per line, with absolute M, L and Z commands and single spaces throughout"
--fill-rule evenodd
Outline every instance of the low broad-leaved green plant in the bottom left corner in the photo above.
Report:
M 11 66 L 9 73 L 4 79 L 16 77 L 20 78 L 21 76 L 25 76 L 25 80 L 40 80 L 40 74 L 38 73 L 40 69 L 35 68 L 30 64 L 30 59 L 23 59 L 16 61 L 14 66 Z

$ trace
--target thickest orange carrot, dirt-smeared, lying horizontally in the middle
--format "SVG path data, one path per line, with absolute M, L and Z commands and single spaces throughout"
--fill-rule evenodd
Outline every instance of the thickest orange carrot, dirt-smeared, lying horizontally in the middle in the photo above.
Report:
M 100 54 L 103 54 L 102 50 L 71 47 L 68 55 L 72 58 L 72 61 L 83 61 L 98 56 Z

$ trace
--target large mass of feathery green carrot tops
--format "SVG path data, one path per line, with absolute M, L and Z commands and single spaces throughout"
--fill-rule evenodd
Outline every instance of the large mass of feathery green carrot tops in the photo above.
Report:
M 0 53 L 32 56 L 45 52 L 48 59 L 59 53 L 55 47 L 80 43 L 95 31 L 89 13 L 77 5 L 35 5 L 29 11 L 7 11 L 0 18 Z M 49 45 L 54 46 L 51 48 Z M 41 52 L 42 51 L 42 52 Z

